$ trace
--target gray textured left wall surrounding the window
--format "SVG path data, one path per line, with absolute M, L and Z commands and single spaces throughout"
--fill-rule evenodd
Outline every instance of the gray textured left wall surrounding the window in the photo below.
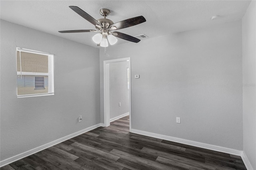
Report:
M 99 49 L 4 20 L 0 36 L 0 160 L 100 123 Z M 54 54 L 55 95 L 17 98 L 16 47 Z

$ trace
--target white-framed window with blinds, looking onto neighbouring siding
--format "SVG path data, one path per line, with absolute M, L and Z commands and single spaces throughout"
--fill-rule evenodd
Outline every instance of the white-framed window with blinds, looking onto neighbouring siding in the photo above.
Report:
M 16 49 L 17 96 L 54 95 L 53 55 L 29 49 Z

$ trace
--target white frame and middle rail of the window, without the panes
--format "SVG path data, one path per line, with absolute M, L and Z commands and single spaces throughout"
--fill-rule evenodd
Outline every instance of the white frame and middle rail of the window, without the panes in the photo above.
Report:
M 45 53 L 41 51 L 34 51 L 31 49 L 24 49 L 24 48 L 16 48 L 16 55 L 17 51 L 21 52 L 27 52 L 27 53 L 35 53 L 40 55 L 48 55 L 48 73 L 34 73 L 34 72 L 23 72 L 17 71 L 17 75 L 35 75 L 35 76 L 48 76 L 48 93 L 39 93 L 39 94 L 29 94 L 29 95 L 18 95 L 18 84 L 17 84 L 17 97 L 35 97 L 35 96 L 49 96 L 54 95 L 54 55 L 50 53 Z M 16 63 L 17 63 L 17 57 L 16 57 Z

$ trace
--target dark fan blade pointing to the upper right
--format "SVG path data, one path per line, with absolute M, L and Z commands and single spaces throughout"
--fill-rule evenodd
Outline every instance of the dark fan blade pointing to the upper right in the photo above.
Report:
M 120 29 L 123 29 L 123 28 L 127 28 L 127 27 L 131 27 L 131 26 L 135 26 L 137 24 L 141 24 L 143 22 L 146 22 L 146 19 L 143 16 L 137 16 L 137 17 L 130 18 L 130 19 L 127 19 L 127 20 L 116 22 L 115 24 L 112 24 L 110 27 L 114 26 L 114 27 L 116 27 L 116 30 L 120 30 Z

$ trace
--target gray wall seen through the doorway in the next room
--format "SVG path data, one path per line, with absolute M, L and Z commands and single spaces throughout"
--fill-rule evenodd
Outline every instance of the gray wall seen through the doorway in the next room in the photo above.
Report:
M 128 61 L 109 64 L 110 119 L 129 112 L 129 90 L 127 89 Z M 121 102 L 121 106 L 119 106 Z

